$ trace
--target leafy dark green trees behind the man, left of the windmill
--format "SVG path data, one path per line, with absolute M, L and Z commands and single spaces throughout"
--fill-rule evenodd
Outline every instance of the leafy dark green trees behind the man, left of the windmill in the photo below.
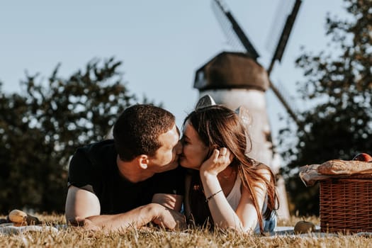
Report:
M 58 65 L 47 83 L 26 75 L 24 94 L 0 92 L 1 213 L 64 211 L 70 156 L 102 140 L 118 113 L 137 101 L 120 64 L 94 60 L 67 79 L 58 76 Z

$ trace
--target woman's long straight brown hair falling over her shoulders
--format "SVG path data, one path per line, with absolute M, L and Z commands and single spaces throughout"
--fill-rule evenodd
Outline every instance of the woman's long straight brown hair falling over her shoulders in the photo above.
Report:
M 247 144 L 249 145 L 248 147 L 252 147 L 252 142 L 242 120 L 230 108 L 213 105 L 196 109 L 188 114 L 184 125 L 186 121 L 193 126 L 201 141 L 207 147 L 210 147 L 210 149 L 214 147 L 227 147 L 232 152 L 234 159 L 229 166 L 238 172 L 242 185 L 247 188 L 252 196 L 252 202 L 259 218 L 260 230 L 263 232 L 263 218 L 268 219 L 271 213 L 276 210 L 276 204 L 278 204 L 275 177 L 268 166 L 257 163 L 254 159 L 247 157 Z M 269 171 L 271 179 L 267 180 L 262 176 L 259 171 L 260 169 Z M 205 225 L 207 220 L 213 222 L 213 219 L 210 215 L 208 203 L 205 203 L 199 173 L 198 171 L 192 171 L 191 174 L 192 179 L 189 194 L 191 213 L 196 224 Z M 264 182 L 267 188 L 267 208 L 263 216 L 257 203 L 257 195 L 254 192 L 254 187 L 262 182 Z

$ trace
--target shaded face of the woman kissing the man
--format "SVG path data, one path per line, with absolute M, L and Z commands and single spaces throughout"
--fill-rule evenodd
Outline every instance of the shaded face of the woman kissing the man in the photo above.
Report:
M 183 148 L 179 164 L 181 167 L 199 169 L 207 157 L 209 149 L 201 142 L 198 133 L 188 121 L 184 126 L 182 142 Z

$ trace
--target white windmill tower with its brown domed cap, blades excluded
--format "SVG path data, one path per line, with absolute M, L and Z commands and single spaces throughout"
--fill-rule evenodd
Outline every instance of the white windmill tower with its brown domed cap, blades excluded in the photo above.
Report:
M 200 97 L 210 95 L 216 103 L 233 110 L 249 110 L 248 128 L 252 147 L 249 156 L 271 165 L 273 147 L 265 92 L 269 89 L 266 69 L 242 52 L 221 52 L 196 71 L 194 88 Z M 278 171 L 275 171 L 278 172 Z

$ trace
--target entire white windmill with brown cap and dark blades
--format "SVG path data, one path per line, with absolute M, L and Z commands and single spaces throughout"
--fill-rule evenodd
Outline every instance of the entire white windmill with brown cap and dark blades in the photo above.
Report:
M 300 0 L 295 0 L 271 58 L 271 63 L 265 69 L 257 62 L 259 53 L 254 49 L 226 5 L 222 3 L 222 0 L 212 0 L 213 10 L 220 21 L 222 30 L 227 35 L 229 42 L 239 46 L 242 52 L 221 52 L 196 70 L 194 80 L 194 88 L 198 89 L 200 97 L 208 94 L 213 97 L 216 103 L 223 104 L 228 108 L 235 110 L 239 106 L 244 106 L 249 110 L 247 130 L 252 140 L 252 150 L 248 154 L 250 157 L 269 165 L 274 174 L 278 174 L 281 164 L 271 140 L 265 93 L 268 89 L 272 89 L 288 114 L 298 123 L 295 111 L 289 106 L 283 94 L 272 84 L 269 76 L 275 62 L 281 61 L 300 4 Z M 278 177 L 277 191 L 280 203 L 279 218 L 288 219 L 286 188 L 280 176 Z

